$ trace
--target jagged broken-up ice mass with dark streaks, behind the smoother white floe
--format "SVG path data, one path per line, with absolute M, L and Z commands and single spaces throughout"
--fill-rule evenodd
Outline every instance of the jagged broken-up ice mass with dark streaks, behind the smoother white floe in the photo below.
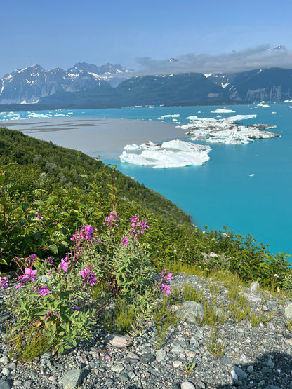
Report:
M 266 131 L 270 128 L 277 128 L 276 125 L 253 124 L 245 127 L 237 122 L 254 117 L 256 115 L 236 115 L 224 119 L 190 116 L 191 123 L 177 127 L 187 130 L 187 135 L 190 136 L 191 140 L 208 143 L 248 144 L 253 142 L 253 139 L 269 139 L 281 136 L 281 134 Z

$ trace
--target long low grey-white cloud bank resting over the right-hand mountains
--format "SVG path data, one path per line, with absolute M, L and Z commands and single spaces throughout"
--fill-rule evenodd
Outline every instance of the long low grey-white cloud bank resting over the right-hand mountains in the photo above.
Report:
M 292 68 L 292 51 L 285 48 L 270 49 L 268 45 L 246 48 L 220 55 L 186 54 L 175 61 L 153 60 L 150 57 L 137 58 L 136 74 L 178 74 L 178 73 L 236 73 L 264 67 Z

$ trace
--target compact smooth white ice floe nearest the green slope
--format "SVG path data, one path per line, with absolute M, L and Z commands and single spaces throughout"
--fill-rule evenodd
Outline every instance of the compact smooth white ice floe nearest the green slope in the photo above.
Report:
M 147 142 L 128 144 L 119 157 L 121 162 L 152 168 L 179 168 L 190 165 L 202 165 L 210 157 L 211 147 L 174 139 L 162 144 Z M 142 151 L 142 152 L 140 152 Z

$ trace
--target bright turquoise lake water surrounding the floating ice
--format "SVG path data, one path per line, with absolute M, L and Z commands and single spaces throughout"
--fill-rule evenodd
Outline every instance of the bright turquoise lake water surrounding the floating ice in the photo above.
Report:
M 161 193 L 192 216 L 194 224 L 203 228 L 223 228 L 251 235 L 270 245 L 270 251 L 292 254 L 292 104 L 226 106 L 236 114 L 256 114 L 242 121 L 277 125 L 282 137 L 258 139 L 252 144 L 211 144 L 211 159 L 202 166 L 152 169 L 105 161 L 118 165 L 118 170 Z M 176 118 L 187 123 L 187 116 L 216 118 L 211 111 L 218 107 L 137 107 L 123 109 L 81 109 L 74 111 L 38 111 L 36 113 L 2 113 L 0 120 L 25 117 L 71 116 L 76 118 L 128 118 L 158 121 L 159 116 L 180 114 Z M 173 123 L 173 118 L 165 118 Z M 54 139 L 51 139 L 54 142 Z M 97 150 L 98 153 L 98 150 Z M 250 175 L 253 174 L 253 177 Z

